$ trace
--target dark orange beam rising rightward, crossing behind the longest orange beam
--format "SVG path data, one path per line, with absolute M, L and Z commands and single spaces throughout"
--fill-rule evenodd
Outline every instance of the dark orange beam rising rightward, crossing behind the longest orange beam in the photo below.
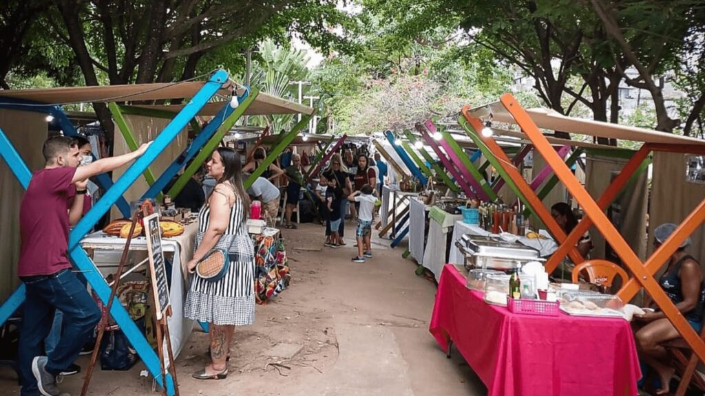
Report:
M 639 151 L 632 156 L 624 168 L 622 168 L 620 174 L 612 180 L 610 185 L 607 187 L 607 190 L 602 193 L 600 199 L 597 201 L 597 206 L 599 206 L 600 209 L 605 210 L 607 206 L 613 202 L 632 175 L 634 175 L 637 171 L 639 166 L 642 165 L 642 162 L 644 162 L 646 156 L 649 156 L 649 152 L 651 152 L 649 145 L 644 144 L 642 148 L 640 148 Z M 580 223 L 577 223 L 575 228 L 573 228 L 568 235 L 568 238 L 560 244 L 558 250 L 553 252 L 548 261 L 546 261 L 546 271 L 548 271 L 548 273 L 551 273 L 554 269 L 556 269 L 558 264 L 560 264 L 560 261 L 563 260 L 563 257 L 570 252 L 570 248 L 575 246 L 577 241 L 580 240 L 580 237 L 584 235 L 585 231 L 589 230 L 591 225 L 592 220 L 587 216 L 584 217 Z

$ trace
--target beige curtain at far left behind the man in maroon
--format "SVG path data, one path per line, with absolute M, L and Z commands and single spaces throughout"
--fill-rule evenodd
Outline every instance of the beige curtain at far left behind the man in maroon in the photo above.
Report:
M 34 172 L 44 166 L 42 144 L 47 139 L 44 115 L 29 111 L 0 110 L 0 128 Z M 4 159 L 0 159 L 0 301 L 15 290 L 20 254 L 20 201 L 25 190 Z

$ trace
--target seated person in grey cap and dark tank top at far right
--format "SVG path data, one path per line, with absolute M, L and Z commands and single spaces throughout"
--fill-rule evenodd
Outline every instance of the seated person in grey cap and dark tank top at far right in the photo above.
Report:
M 668 239 L 675 228 L 677 225 L 666 223 L 659 225 L 654 230 L 654 245 L 657 249 Z M 680 245 L 673 256 L 670 256 L 668 268 L 658 279 L 658 283 L 678 308 L 678 311 L 685 316 L 690 326 L 699 333 L 703 321 L 705 289 L 700 264 L 685 252 L 688 245 L 690 245 L 690 238 Z M 658 373 L 661 389 L 656 392 L 656 395 L 666 395 L 669 392 L 668 383 L 670 383 L 675 369 L 670 364 L 666 348 L 661 344 L 679 338 L 678 330 L 658 307 L 656 311 L 648 311 L 644 315 L 635 316 L 635 320 L 641 322 L 643 326 L 635 334 L 639 357 Z

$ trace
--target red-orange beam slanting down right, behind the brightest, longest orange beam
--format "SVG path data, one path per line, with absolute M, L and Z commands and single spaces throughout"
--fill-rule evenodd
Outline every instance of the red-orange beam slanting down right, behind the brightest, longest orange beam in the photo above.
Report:
M 536 192 L 534 192 L 531 186 L 529 186 L 529 183 L 524 180 L 522 174 L 513 165 L 512 161 L 510 161 L 507 154 L 504 153 L 504 150 L 499 147 L 499 144 L 497 144 L 497 142 L 495 142 L 492 137 L 482 136 L 482 133 L 480 133 L 483 128 L 482 121 L 477 117 L 471 116 L 469 111 L 470 106 L 465 105 L 465 107 L 462 108 L 462 116 L 464 116 L 467 122 L 470 123 L 470 126 L 475 131 L 475 134 L 482 140 L 482 142 L 484 142 L 487 148 L 492 151 L 492 153 L 497 157 L 497 159 L 499 159 L 499 163 L 501 164 L 502 168 L 504 168 L 504 171 L 509 175 L 514 184 L 524 195 L 529 205 L 532 206 L 532 208 L 534 209 L 534 213 L 537 214 L 539 218 L 541 218 L 541 221 L 543 221 L 544 224 L 546 224 L 546 227 L 548 228 L 548 231 L 551 233 L 551 235 L 553 235 L 553 237 L 556 238 L 559 243 L 563 243 L 567 236 L 565 235 L 563 228 L 560 228 L 560 225 L 556 223 L 556 219 L 551 216 L 551 211 L 546 209 L 544 203 L 541 202 L 541 199 L 539 199 Z M 536 147 L 534 146 L 534 149 L 535 148 Z M 556 150 L 553 149 L 553 147 L 551 147 L 551 150 L 553 151 L 553 154 L 558 156 L 558 154 L 556 154 Z M 578 252 L 577 247 L 575 246 L 570 249 L 568 254 L 570 255 L 570 259 L 572 259 L 572 261 L 576 265 L 585 261 L 585 259 L 580 254 L 580 252 Z

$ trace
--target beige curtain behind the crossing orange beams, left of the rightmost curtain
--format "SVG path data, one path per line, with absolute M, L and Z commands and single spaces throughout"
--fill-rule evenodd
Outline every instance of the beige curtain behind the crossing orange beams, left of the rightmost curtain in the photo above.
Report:
M 599 199 L 626 163 L 625 159 L 587 155 L 585 187 L 593 199 Z M 646 177 L 646 172 L 642 172 L 638 178 L 632 178 L 624 187 L 622 194 L 613 202 L 613 210 L 606 211 L 606 213 L 615 214 L 613 217 L 618 223 L 617 229 L 642 260 L 646 254 Z M 605 238 L 601 233 L 594 226 L 590 228 L 589 233 L 594 245 L 590 258 L 614 261 L 606 257 Z

